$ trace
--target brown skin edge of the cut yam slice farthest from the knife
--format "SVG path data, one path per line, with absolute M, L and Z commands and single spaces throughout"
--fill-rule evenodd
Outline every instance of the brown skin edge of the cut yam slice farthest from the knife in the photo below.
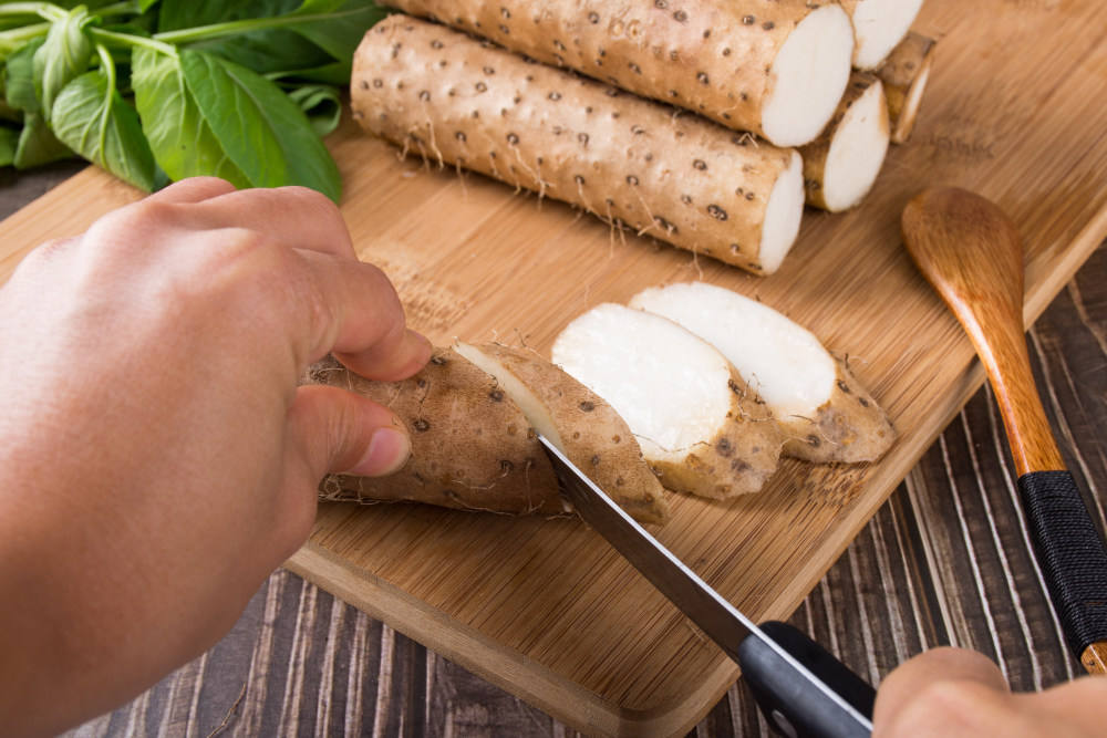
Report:
M 815 464 L 876 461 L 896 440 L 888 414 L 841 361 L 830 399 L 814 418 L 777 422 L 787 436 L 784 453 Z

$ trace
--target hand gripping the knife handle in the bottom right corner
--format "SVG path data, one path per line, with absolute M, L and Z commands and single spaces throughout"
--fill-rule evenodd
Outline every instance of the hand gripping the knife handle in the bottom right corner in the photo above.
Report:
M 873 738 L 1103 736 L 1107 677 L 1086 676 L 1041 693 L 1013 694 L 973 651 L 935 648 L 883 680 Z

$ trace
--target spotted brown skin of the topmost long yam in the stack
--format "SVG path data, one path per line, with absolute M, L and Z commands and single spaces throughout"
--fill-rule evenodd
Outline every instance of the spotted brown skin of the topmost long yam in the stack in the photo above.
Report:
M 531 59 L 762 134 L 768 71 L 825 0 L 386 0 Z

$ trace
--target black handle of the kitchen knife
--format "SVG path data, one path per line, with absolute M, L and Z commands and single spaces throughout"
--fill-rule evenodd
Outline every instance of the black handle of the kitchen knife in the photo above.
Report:
M 872 719 L 876 690 L 823 646 L 787 623 L 769 621 L 762 632 L 803 664 L 867 719 Z M 786 736 L 846 738 L 868 736 L 857 721 L 761 638 L 738 646 L 742 678 L 757 699 L 765 719 Z

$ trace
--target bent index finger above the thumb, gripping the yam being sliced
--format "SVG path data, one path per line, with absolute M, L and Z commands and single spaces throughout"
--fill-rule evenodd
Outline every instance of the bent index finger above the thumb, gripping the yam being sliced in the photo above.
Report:
M 376 267 L 325 254 L 300 253 L 310 279 L 303 305 L 287 303 L 298 324 L 299 355 L 307 365 L 333 352 L 370 380 L 411 376 L 431 358 L 431 342 L 406 328 L 395 288 Z

